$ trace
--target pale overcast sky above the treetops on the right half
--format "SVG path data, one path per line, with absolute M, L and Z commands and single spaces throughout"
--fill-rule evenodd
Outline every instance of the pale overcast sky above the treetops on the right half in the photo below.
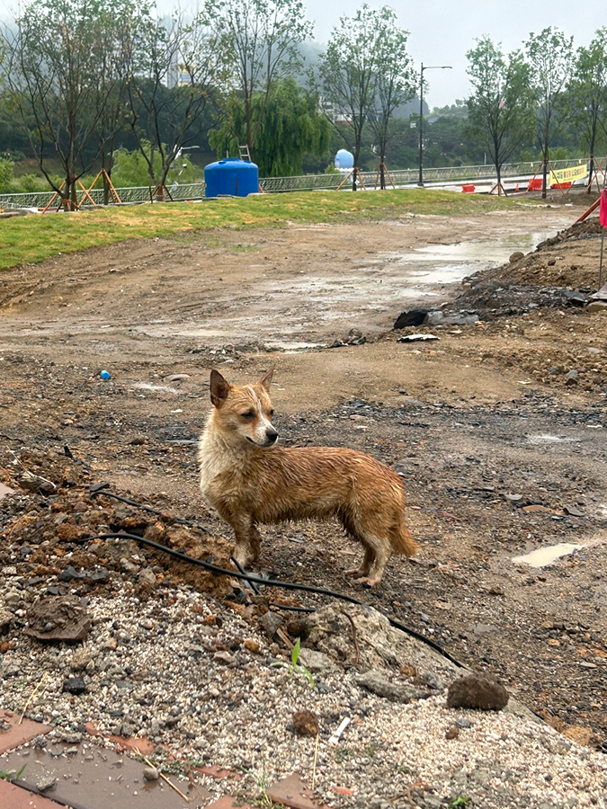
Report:
M 328 40 L 340 16 L 352 15 L 361 2 L 357 0 L 304 0 L 308 19 L 316 22 L 317 43 Z M 398 24 L 410 31 L 409 53 L 419 69 L 424 65 L 451 65 L 452 70 L 429 70 L 424 76 L 429 84 L 426 100 L 430 107 L 453 103 L 468 93 L 466 52 L 476 37 L 488 34 L 502 42 L 504 49 L 519 48 L 531 31 L 539 32 L 555 25 L 575 37 L 574 46 L 587 45 L 594 31 L 607 19 L 600 5 L 576 6 L 571 0 L 405 0 L 375 2 L 372 8 L 389 5 L 398 15 Z

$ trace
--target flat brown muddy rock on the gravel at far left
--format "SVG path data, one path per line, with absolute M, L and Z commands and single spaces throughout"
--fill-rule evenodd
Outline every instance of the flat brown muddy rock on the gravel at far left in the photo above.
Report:
M 45 596 L 27 611 L 25 634 L 41 641 L 84 640 L 91 628 L 85 607 L 76 596 Z

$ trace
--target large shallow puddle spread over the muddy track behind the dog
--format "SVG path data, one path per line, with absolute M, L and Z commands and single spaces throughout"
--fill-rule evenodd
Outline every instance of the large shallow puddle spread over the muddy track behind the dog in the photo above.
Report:
M 276 351 L 313 351 L 353 325 L 369 336 L 390 328 L 396 316 L 415 305 L 431 308 L 448 300 L 451 285 L 475 272 L 500 266 L 516 251 L 530 252 L 556 229 L 430 244 L 399 252 L 372 253 L 349 262 L 312 263 L 297 275 L 263 275 L 244 281 L 241 298 L 233 289 L 213 291 L 212 304 L 188 302 L 183 318 L 149 321 L 133 328 L 159 339 L 184 337 L 209 345 L 260 342 Z M 490 230 L 487 228 L 487 233 Z M 250 269 L 250 268 L 249 268 Z M 200 316 L 192 316 L 194 307 Z M 176 314 L 176 313 L 175 313 Z

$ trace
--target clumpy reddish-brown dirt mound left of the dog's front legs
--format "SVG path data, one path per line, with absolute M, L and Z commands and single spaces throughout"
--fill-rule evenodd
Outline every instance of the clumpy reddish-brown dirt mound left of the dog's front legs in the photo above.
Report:
M 41 582 L 57 575 L 59 582 L 82 582 L 85 591 L 91 591 L 106 587 L 110 571 L 121 571 L 131 577 L 138 597 L 147 597 L 156 582 L 167 577 L 217 597 L 231 590 L 225 576 L 142 549 L 134 540 L 97 537 L 126 532 L 229 567 L 231 545 L 226 539 L 193 524 L 180 524 L 170 514 L 144 511 L 103 491 L 95 493 L 80 483 L 88 476 L 85 471 L 68 459 L 57 461 L 53 453 L 28 451 L 15 459 L 24 470 L 17 483 L 33 486 L 40 480 L 49 485 L 44 490 L 38 486 L 30 497 L 6 498 L 0 507 L 0 563 L 14 565 L 19 560 L 18 573 L 26 580 Z M 46 495 L 49 488 L 53 493 Z M 59 594 L 61 587 L 55 588 Z

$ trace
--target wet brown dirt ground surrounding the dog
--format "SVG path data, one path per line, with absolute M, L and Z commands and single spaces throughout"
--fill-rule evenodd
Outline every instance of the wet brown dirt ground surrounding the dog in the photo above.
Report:
M 396 468 L 420 553 L 369 591 L 343 573 L 360 549 L 306 524 L 265 529 L 261 569 L 356 594 L 604 747 L 607 314 L 565 296 L 596 288 L 598 228 L 531 253 L 578 215 L 218 231 L 4 271 L 0 479 L 18 486 L 25 449 L 67 446 L 115 491 L 229 536 L 196 483 L 209 370 L 238 382 L 275 364 L 281 440 Z M 517 250 L 531 256 L 508 264 Z M 443 303 L 481 319 L 392 330 Z M 397 342 L 420 331 L 440 339 Z M 560 542 L 583 547 L 513 562 Z

